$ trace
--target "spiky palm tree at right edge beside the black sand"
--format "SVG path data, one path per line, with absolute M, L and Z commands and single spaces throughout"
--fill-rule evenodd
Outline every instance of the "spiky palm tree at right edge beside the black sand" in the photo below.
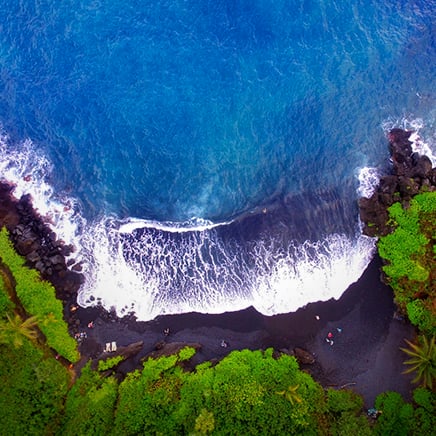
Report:
M 436 378 L 436 347 L 435 337 L 429 341 L 426 336 L 420 336 L 418 342 L 413 344 L 405 339 L 409 348 L 400 348 L 411 359 L 404 362 L 410 368 L 404 374 L 416 371 L 413 383 L 421 383 L 423 387 L 433 389 L 433 380 Z

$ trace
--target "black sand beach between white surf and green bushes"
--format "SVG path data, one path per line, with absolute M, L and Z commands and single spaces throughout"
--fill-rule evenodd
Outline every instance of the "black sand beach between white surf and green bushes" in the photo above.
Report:
M 387 390 L 410 399 L 413 385 L 411 377 L 402 374 L 405 355 L 399 347 L 404 346 L 404 338 L 413 338 L 415 330 L 395 316 L 392 291 L 381 282 L 380 267 L 381 261 L 375 257 L 338 301 L 313 303 L 295 313 L 271 317 L 249 308 L 221 315 L 189 313 L 135 322 L 99 308 L 79 308 L 75 312 L 80 321 L 77 328 L 87 333 L 80 349 L 84 356 L 95 358 L 107 342 L 126 346 L 143 341 L 134 361 L 121 365 L 121 370 L 128 371 L 162 341 L 201 344 L 194 363 L 220 359 L 244 348 L 301 347 L 316 359 L 312 365 L 302 365 L 303 369 L 325 387 L 352 388 L 363 395 L 368 408 Z M 90 321 L 94 323 L 91 329 Z M 164 334 L 165 329 L 169 335 Z M 333 345 L 326 341 L 329 333 Z M 227 347 L 222 346 L 223 340 Z

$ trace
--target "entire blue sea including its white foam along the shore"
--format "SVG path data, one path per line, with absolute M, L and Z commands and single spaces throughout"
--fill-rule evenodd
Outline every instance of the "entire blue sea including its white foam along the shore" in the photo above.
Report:
M 0 177 L 77 247 L 81 305 L 338 298 L 386 132 L 435 153 L 435 23 L 434 0 L 3 0 Z

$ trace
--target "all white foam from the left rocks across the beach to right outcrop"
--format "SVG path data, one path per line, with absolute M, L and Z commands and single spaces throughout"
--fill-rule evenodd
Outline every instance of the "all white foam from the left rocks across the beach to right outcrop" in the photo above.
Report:
M 302 245 L 264 236 L 250 247 L 219 237 L 207 221 L 157 223 L 106 217 L 86 222 L 77 202 L 53 192 L 50 162 L 30 141 L 0 142 L 1 177 L 14 182 L 15 194 L 32 195 L 35 207 L 54 230 L 80 250 L 85 284 L 82 306 L 97 302 L 119 315 L 134 312 L 150 320 L 161 314 L 222 313 L 254 306 L 272 315 L 309 302 L 339 298 L 371 260 L 375 240 L 362 235 L 330 235 Z M 377 171 L 361 171 L 362 195 L 377 182 Z M 270 238 L 270 239 L 268 239 Z

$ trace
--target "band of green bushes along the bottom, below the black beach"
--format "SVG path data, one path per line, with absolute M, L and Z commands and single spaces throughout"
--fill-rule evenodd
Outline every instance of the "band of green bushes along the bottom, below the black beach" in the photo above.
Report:
M 206 362 L 191 372 L 183 369 L 182 350 L 147 360 L 142 370 L 121 382 L 93 371 L 88 362 L 68 392 L 66 378 L 53 375 L 56 366 L 63 369 L 54 359 L 39 356 L 40 363 L 28 365 L 28 353 L 35 350 L 20 354 L 27 362 L 14 374 L 15 385 L 9 378 L 13 364 L 2 366 L 4 382 L 15 395 L 0 400 L 6 409 L 0 425 L 10 426 L 0 428 L 11 428 L 10 434 L 423 435 L 435 425 L 435 394 L 430 390 L 415 390 L 413 404 L 395 392 L 382 394 L 376 400 L 381 415 L 369 419 L 359 395 L 324 391 L 293 357 L 274 358 L 271 349 L 234 351 L 215 366 Z M 36 387 L 30 383 L 35 375 Z M 25 407 L 14 415 L 9 403 L 16 407 L 22 395 Z

